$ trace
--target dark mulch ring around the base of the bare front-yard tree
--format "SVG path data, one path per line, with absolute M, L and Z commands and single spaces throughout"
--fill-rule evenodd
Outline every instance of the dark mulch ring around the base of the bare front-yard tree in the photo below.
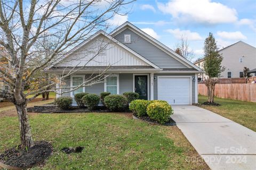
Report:
M 20 146 L 7 149 L 0 155 L 0 162 L 12 167 L 29 168 L 42 163 L 52 153 L 49 142 L 37 141 L 35 146 L 27 151 Z

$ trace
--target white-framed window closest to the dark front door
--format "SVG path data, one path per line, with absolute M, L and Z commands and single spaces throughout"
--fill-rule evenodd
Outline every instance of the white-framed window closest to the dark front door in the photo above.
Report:
M 109 75 L 105 78 L 104 91 L 111 92 L 112 95 L 119 94 L 119 76 Z

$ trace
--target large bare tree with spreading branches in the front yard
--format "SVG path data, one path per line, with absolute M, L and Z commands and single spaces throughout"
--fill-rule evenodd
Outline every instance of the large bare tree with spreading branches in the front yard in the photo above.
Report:
M 0 56 L 7 62 L 0 65 L 1 82 L 10 91 L 0 91 L 0 97 L 11 101 L 17 108 L 20 122 L 22 148 L 34 146 L 28 116 L 27 103 L 56 82 L 24 92 L 26 84 L 39 70 L 45 69 L 77 44 L 100 29 L 108 28 L 108 20 L 115 14 L 123 14 L 124 6 L 133 0 L 45 0 L 0 2 Z M 54 40 L 46 46 L 47 40 Z M 38 48 L 42 47 L 42 48 Z M 100 51 L 100 50 L 99 50 Z M 37 56 L 44 53 L 38 62 Z M 96 56 L 96 53 L 94 56 Z M 93 57 L 91 58 L 93 60 Z M 88 62 L 90 62 L 89 60 Z M 35 62 L 36 61 L 36 62 Z M 85 66 L 84 64 L 83 66 Z M 79 67 L 81 69 L 82 67 Z M 76 67 L 63 72 L 58 81 L 79 71 Z M 102 81 L 104 71 L 74 88 Z M 29 95 L 33 97 L 28 98 Z

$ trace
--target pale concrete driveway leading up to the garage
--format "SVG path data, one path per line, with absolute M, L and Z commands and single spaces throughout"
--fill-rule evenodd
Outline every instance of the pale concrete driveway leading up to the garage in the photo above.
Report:
M 256 132 L 197 106 L 172 107 L 178 128 L 211 169 L 256 169 Z

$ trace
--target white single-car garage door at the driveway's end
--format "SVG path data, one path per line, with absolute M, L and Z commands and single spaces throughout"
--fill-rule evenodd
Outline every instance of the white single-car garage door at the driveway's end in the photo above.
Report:
M 190 81 L 190 78 L 158 77 L 157 99 L 171 105 L 189 105 Z

